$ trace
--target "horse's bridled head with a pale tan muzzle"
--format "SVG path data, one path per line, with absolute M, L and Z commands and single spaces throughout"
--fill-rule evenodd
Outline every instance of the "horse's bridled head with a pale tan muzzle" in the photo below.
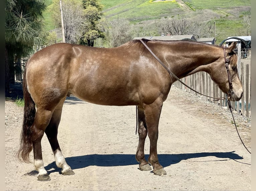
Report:
M 229 47 L 223 48 L 223 57 L 214 66 L 212 79 L 219 85 L 219 88 L 226 94 L 231 101 L 239 101 L 243 95 L 243 87 L 238 75 L 237 55 L 234 52 L 236 42 Z

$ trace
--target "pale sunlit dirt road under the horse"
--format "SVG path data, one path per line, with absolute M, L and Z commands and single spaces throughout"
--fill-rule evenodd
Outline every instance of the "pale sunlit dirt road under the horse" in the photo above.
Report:
M 5 102 L 6 190 L 251 190 L 251 165 L 245 164 L 251 164 L 251 155 L 240 142 L 231 115 L 175 87 L 159 123 L 157 150 L 166 176 L 138 170 L 135 106 L 102 106 L 69 97 L 58 140 L 76 174 L 60 174 L 44 136 L 43 160 L 51 180 L 39 182 L 33 164 L 15 159 L 22 117 L 22 107 Z M 250 150 L 251 126 L 241 116 L 236 118 Z M 148 137 L 145 154 L 147 158 Z

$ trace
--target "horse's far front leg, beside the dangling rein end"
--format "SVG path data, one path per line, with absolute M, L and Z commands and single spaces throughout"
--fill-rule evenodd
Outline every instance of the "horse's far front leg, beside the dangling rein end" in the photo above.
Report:
M 139 164 L 140 170 L 151 170 L 151 167 L 146 161 L 145 154 L 144 154 L 145 139 L 147 136 L 145 114 L 144 114 L 144 110 L 140 109 L 139 107 L 138 107 L 138 134 L 139 134 L 139 143 L 138 143 L 138 148 L 137 148 L 135 158 L 140 163 Z

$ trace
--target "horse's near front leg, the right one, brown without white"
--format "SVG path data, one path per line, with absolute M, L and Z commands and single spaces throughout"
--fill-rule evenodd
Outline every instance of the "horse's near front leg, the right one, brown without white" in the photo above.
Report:
M 153 166 L 153 172 L 156 175 L 166 175 L 166 171 L 163 169 L 162 165 L 160 165 L 157 156 L 158 124 L 162 105 L 162 100 L 157 99 L 152 104 L 144 107 L 145 121 L 150 140 L 148 162 Z

